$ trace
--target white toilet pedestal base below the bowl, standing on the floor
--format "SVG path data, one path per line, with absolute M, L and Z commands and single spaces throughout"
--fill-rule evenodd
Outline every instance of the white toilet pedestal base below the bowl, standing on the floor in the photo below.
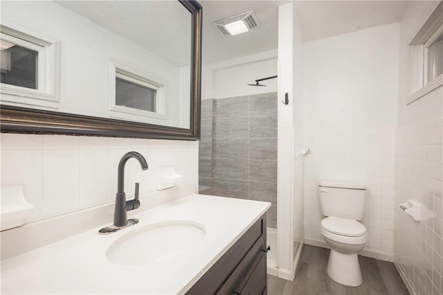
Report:
M 327 274 L 342 285 L 357 287 L 363 283 L 357 253 L 341 253 L 331 249 L 327 262 Z

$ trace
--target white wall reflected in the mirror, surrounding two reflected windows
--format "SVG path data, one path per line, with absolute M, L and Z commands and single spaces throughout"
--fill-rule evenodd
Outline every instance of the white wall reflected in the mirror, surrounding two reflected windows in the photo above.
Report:
M 180 69 L 172 62 L 53 1 L 2 2 L 1 18 L 3 21 L 17 24 L 20 28 L 24 27 L 31 33 L 37 31 L 60 41 L 60 103 L 51 104 L 51 107 L 57 108 L 55 110 L 109 117 L 109 61 L 113 61 L 147 78 L 166 84 L 168 120 L 146 117 L 138 117 L 137 120 L 189 127 L 188 120 L 179 120 L 179 107 L 187 106 L 185 111 L 189 112 L 189 93 L 182 96 L 184 102 L 177 101 L 180 96 Z M 185 78 L 189 79 L 189 76 L 185 75 Z M 2 100 L 6 99 L 3 95 Z M 123 113 L 119 115 L 128 118 Z M 134 120 L 134 116 L 130 118 Z

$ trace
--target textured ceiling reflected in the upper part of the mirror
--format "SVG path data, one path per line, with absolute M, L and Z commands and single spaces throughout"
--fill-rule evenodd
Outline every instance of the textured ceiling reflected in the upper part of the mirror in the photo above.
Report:
M 178 1 L 56 1 L 179 66 L 190 64 L 190 13 Z

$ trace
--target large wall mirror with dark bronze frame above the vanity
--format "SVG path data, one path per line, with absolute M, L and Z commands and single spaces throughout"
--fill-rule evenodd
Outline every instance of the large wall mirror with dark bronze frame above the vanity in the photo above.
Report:
M 197 1 L 2 1 L 1 131 L 199 138 Z

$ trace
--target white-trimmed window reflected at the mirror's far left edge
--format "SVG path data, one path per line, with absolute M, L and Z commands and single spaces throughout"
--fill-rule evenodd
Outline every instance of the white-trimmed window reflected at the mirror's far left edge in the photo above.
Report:
M 0 25 L 1 101 L 48 106 L 41 100 L 58 101 L 59 42 L 22 29 Z

